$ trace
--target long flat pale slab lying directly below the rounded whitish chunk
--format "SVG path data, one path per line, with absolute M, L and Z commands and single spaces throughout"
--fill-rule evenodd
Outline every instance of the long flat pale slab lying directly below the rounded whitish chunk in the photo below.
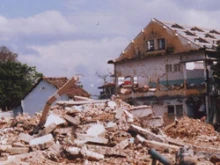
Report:
M 91 136 L 91 135 L 80 134 L 80 133 L 76 133 L 76 136 L 77 136 L 77 139 L 84 140 L 87 142 L 93 142 L 93 143 L 99 143 L 99 144 L 107 144 L 108 143 L 108 139 L 98 137 L 98 136 Z

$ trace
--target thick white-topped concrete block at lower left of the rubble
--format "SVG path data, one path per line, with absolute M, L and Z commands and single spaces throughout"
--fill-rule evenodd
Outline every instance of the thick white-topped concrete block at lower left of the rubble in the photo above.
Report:
M 31 140 L 29 144 L 32 150 L 36 150 L 49 148 L 53 145 L 53 143 L 53 136 L 51 134 L 48 134 Z

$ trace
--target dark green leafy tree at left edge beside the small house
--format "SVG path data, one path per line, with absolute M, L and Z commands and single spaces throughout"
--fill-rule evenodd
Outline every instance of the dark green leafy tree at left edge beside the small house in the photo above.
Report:
M 38 73 L 35 67 L 17 61 L 16 53 L 9 51 L 6 47 L 1 48 L 0 108 L 7 110 L 20 104 L 21 99 L 34 85 L 36 79 L 42 77 L 42 74 Z

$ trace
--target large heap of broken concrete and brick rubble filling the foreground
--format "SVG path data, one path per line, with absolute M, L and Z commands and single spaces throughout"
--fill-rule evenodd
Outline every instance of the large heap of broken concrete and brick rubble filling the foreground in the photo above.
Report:
M 193 128 L 188 134 L 177 131 L 197 121 L 183 118 L 164 127 L 163 118 L 155 117 L 149 106 L 131 106 L 119 99 L 58 102 L 50 108 L 42 127 L 38 125 L 40 117 L 41 113 L 0 119 L 0 164 L 139 165 L 155 162 L 156 151 L 169 164 L 175 164 L 177 152 L 182 158 L 183 151 L 200 164 L 220 162 L 218 138 L 207 141 L 209 148 L 196 148 L 192 140 L 186 139 Z M 197 126 L 218 137 L 210 126 Z

